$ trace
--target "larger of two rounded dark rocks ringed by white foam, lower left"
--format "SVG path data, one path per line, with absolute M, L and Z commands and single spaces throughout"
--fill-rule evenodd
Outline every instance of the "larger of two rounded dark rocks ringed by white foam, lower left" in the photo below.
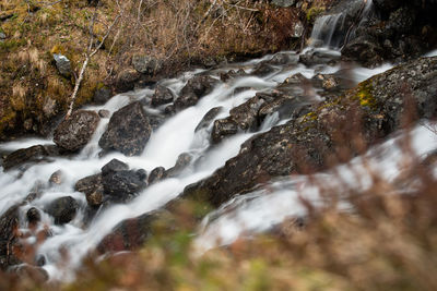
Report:
M 71 196 L 66 196 L 50 203 L 46 211 L 55 218 L 56 225 L 64 225 L 73 220 L 78 209 L 78 202 Z

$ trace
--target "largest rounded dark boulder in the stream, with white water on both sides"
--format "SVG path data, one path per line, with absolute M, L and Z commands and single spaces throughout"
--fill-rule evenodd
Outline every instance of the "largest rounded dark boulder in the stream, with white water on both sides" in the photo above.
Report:
M 149 118 L 141 104 L 135 101 L 113 114 L 98 145 L 103 149 L 115 149 L 127 156 L 138 156 L 143 151 L 151 133 Z

